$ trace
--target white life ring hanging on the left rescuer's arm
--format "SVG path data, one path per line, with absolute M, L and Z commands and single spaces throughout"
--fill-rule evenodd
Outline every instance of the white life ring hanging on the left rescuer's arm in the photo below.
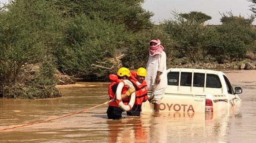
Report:
M 129 88 L 134 88 L 134 86 L 130 80 L 125 79 L 123 80 L 123 82 L 120 82 L 118 84 L 116 89 L 116 100 L 119 102 L 118 103 L 119 107 L 124 111 L 130 111 L 134 105 L 136 94 L 135 92 L 131 94 L 131 99 L 128 105 L 123 104 L 122 97 L 121 97 L 123 86 L 128 86 Z

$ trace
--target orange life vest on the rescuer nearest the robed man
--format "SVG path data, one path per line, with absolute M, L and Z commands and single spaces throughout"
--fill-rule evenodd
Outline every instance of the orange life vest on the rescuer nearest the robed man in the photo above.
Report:
M 147 101 L 147 82 L 143 80 L 142 83 L 139 83 L 135 78 L 136 72 L 131 71 L 131 77 L 129 80 L 133 83 L 136 92 L 136 99 L 134 105 L 142 105 L 142 102 Z

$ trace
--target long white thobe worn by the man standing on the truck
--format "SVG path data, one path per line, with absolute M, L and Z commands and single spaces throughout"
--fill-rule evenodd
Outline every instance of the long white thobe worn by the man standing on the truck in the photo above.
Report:
M 160 75 L 160 83 L 156 84 L 157 71 L 162 72 Z M 166 54 L 162 51 L 162 54 L 156 54 L 154 56 L 149 55 L 147 61 L 147 87 L 149 91 L 152 91 L 152 95 L 158 101 L 163 98 L 165 89 L 167 88 L 167 68 L 166 68 Z

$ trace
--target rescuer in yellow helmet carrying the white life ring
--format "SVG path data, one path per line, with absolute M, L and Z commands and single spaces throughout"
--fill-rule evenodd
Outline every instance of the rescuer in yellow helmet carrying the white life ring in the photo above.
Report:
M 116 101 L 116 89 L 121 80 L 128 79 L 129 77 L 131 77 L 130 70 L 124 67 L 118 70 L 117 75 L 109 75 L 109 79 L 111 80 L 111 84 L 109 85 L 109 99 L 114 99 L 109 103 L 109 107 L 107 109 L 107 117 L 109 119 L 118 120 L 122 117 L 123 110 L 119 107 L 118 102 Z M 124 104 L 127 105 L 129 103 L 129 96 L 134 91 L 134 88 L 128 89 L 127 86 L 123 87 L 121 96 Z

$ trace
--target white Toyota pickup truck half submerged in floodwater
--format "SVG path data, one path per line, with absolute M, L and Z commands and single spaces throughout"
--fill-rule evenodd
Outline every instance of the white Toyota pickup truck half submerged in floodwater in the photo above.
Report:
M 168 86 L 160 104 L 160 112 L 204 113 L 228 109 L 241 103 L 225 73 L 214 70 L 170 68 Z M 148 96 L 151 96 L 148 92 Z M 154 103 L 144 102 L 142 112 L 154 111 Z

